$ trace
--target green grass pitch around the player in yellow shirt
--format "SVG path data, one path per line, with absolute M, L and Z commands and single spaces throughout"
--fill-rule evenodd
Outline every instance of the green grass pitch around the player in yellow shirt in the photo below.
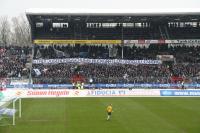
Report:
M 22 109 L 0 133 L 200 133 L 200 98 L 23 99 Z

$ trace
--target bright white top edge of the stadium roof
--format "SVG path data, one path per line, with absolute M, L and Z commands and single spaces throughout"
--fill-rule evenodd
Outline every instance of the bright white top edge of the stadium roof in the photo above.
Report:
M 200 9 L 28 9 L 27 15 L 200 15 Z

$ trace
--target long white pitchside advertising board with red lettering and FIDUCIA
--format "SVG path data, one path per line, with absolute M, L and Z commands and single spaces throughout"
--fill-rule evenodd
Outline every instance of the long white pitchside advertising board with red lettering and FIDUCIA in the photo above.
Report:
M 48 97 L 132 97 L 160 96 L 159 89 L 102 89 L 102 90 L 72 90 L 72 89 L 13 89 L 3 91 L 3 96 L 20 98 Z

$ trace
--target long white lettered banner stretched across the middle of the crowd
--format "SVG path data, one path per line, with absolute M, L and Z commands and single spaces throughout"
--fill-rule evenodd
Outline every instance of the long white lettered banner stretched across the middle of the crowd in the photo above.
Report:
M 33 64 L 58 64 L 58 63 L 95 63 L 95 64 L 161 64 L 160 60 L 121 60 L 121 59 L 85 59 L 85 58 L 66 58 L 66 59 L 40 59 L 33 60 Z

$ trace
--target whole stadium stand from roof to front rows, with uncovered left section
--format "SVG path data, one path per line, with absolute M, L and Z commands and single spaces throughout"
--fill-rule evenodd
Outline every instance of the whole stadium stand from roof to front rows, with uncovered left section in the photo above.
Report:
M 33 48 L 1 47 L 2 78 L 32 78 L 34 84 L 79 80 L 89 83 L 91 78 L 94 83 L 109 84 L 199 82 L 198 13 L 58 14 L 27 12 Z M 26 67 L 35 60 L 51 59 L 96 59 L 97 62 L 119 59 L 146 63 L 57 62 L 33 63 Z M 162 63 L 148 63 L 154 60 Z

